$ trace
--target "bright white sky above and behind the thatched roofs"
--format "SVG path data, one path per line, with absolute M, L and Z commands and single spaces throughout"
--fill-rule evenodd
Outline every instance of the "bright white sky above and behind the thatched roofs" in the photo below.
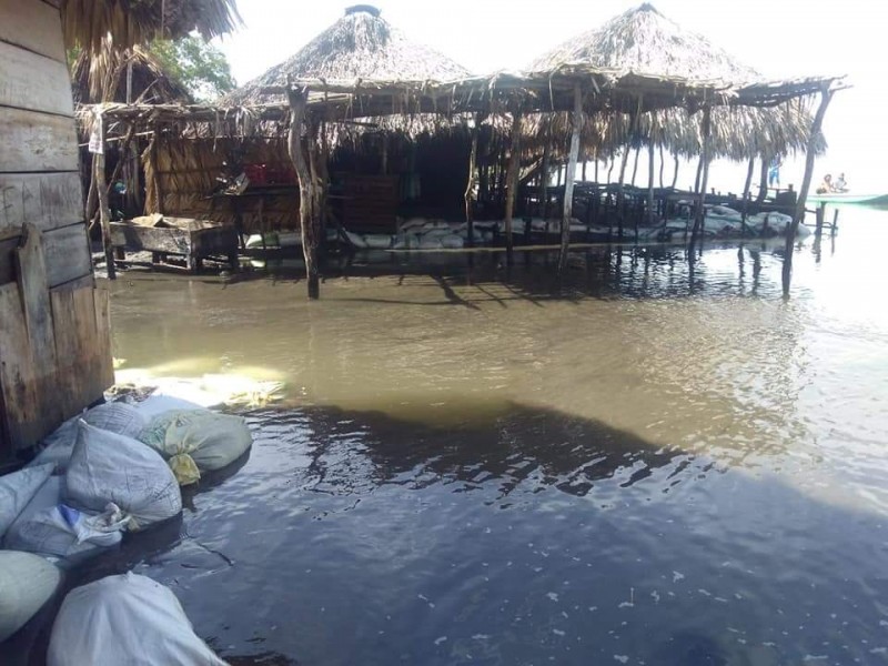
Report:
M 238 83 L 285 60 L 354 4 L 324 0 L 240 0 L 244 27 L 218 41 Z M 376 0 L 382 17 L 410 39 L 425 43 L 475 73 L 521 69 L 536 56 L 636 7 L 626 0 Z M 849 90 L 836 93 L 818 159 L 824 173 L 845 172 L 857 192 L 888 192 L 882 161 L 888 133 L 888 32 L 884 10 L 869 0 L 657 0 L 654 7 L 683 28 L 705 36 L 766 78 L 846 74 Z M 783 185 L 801 183 L 804 157 L 787 160 Z M 642 169 L 640 171 L 644 171 Z M 710 184 L 743 189 L 746 165 L 717 163 Z M 679 186 L 693 181 L 683 168 Z M 643 184 L 639 181 L 639 184 Z

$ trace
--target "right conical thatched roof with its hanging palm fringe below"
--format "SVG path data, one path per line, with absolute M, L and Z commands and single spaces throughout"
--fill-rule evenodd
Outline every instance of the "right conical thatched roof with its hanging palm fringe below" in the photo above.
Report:
M 531 63 L 536 71 L 586 64 L 645 75 L 680 77 L 688 80 L 746 84 L 761 74 L 737 61 L 705 37 L 683 29 L 644 3 L 612 19 L 601 28 L 567 40 Z M 793 100 L 774 108 L 716 107 L 712 111 L 713 154 L 743 160 L 804 150 L 811 127 L 808 103 Z M 556 143 L 569 131 L 565 115 L 536 119 L 527 124 L 531 144 L 542 143 L 546 131 Z M 700 117 L 675 108 L 638 119 L 633 137 L 627 115 L 613 119 L 603 143 L 585 144 L 587 153 L 607 152 L 634 140 L 653 141 L 677 154 L 699 154 L 703 142 Z M 592 132 L 588 132 L 592 134 Z M 825 143 L 823 144 L 825 147 Z

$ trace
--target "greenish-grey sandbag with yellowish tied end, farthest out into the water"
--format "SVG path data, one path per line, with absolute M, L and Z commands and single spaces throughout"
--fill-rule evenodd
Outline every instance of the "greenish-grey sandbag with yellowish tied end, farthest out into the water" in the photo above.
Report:
M 253 443 L 243 418 L 208 410 L 155 416 L 140 440 L 169 461 L 181 485 L 198 482 L 200 472 L 233 463 Z

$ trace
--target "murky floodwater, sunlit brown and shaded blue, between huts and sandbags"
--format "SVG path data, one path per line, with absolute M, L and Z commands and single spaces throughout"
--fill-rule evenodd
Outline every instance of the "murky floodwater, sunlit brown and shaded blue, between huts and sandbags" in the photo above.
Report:
M 888 212 L 841 223 L 788 301 L 760 243 L 581 252 L 559 293 L 542 255 L 317 303 L 130 273 L 128 366 L 287 390 L 93 575 L 170 585 L 234 664 L 888 663 Z

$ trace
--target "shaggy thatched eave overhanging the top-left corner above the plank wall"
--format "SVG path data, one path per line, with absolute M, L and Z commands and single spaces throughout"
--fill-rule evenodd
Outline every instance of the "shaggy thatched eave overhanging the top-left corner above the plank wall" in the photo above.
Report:
M 68 47 L 92 52 L 101 51 L 109 33 L 124 49 L 193 30 L 211 39 L 241 21 L 234 0 L 62 0 L 61 11 Z

